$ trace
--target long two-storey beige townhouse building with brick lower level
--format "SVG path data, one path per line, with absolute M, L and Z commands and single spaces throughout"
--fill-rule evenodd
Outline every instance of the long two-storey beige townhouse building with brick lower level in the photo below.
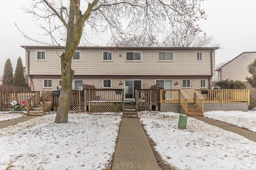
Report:
M 61 88 L 62 47 L 21 46 L 26 50 L 27 84 L 34 91 Z M 134 89 L 211 89 L 218 47 L 77 47 L 73 56 L 73 89 L 83 84 L 96 88 L 125 89 L 125 99 L 134 99 Z

